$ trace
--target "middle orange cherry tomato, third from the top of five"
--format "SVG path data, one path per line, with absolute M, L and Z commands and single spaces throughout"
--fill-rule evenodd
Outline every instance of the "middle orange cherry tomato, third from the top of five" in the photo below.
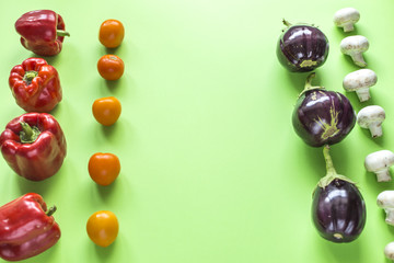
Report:
M 101 98 L 93 102 L 92 112 L 100 124 L 111 126 L 119 118 L 121 105 L 115 96 Z

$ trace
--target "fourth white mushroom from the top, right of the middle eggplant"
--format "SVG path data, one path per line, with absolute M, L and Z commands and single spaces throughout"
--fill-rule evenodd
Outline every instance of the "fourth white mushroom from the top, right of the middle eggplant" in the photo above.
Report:
M 383 135 L 382 123 L 384 119 L 384 108 L 378 105 L 366 106 L 357 114 L 357 123 L 361 128 L 368 128 L 373 138 Z

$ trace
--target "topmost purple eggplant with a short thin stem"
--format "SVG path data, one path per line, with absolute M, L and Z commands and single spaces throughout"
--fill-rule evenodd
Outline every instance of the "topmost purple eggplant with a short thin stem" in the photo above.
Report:
M 313 25 L 291 25 L 283 30 L 277 44 L 280 64 L 292 72 L 308 72 L 321 67 L 328 57 L 329 44 L 324 33 Z

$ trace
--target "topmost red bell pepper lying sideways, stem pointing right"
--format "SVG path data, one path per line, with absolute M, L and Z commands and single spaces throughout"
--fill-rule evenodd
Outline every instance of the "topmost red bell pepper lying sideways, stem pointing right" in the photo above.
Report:
M 51 10 L 35 10 L 24 13 L 15 22 L 22 45 L 39 56 L 55 56 L 61 52 L 66 25 L 60 14 Z

